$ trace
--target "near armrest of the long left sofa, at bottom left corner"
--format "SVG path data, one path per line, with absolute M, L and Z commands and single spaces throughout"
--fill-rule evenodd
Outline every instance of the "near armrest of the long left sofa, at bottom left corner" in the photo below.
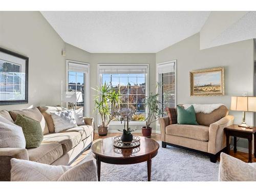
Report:
M 29 160 L 26 148 L 0 148 L 0 181 L 11 179 L 11 159 Z

